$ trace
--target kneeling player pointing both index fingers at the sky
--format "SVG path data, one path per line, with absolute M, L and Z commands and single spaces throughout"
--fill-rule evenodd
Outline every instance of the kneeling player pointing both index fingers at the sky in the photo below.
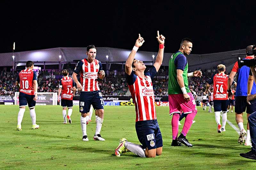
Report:
M 128 142 L 125 138 L 120 139 L 115 155 L 120 156 L 124 152 L 132 152 L 142 158 L 156 157 L 162 154 L 162 134 L 156 120 L 156 108 L 152 79 L 159 70 L 164 57 L 164 36 L 159 35 L 159 51 L 153 67 L 147 71 L 145 64 L 134 59 L 138 48 L 144 43 L 140 36 L 135 42 L 130 55 L 125 63 L 125 77 L 132 94 L 136 110 L 135 129 L 142 145 Z

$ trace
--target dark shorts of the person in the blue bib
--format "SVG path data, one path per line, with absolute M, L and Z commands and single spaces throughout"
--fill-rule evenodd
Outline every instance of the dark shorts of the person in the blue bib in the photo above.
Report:
M 252 114 L 253 112 L 256 112 L 256 99 L 251 100 L 250 101 L 251 105 L 249 105 L 246 101 L 246 98 L 247 98 L 247 96 L 236 96 L 235 97 L 235 103 L 236 103 L 235 112 L 236 113 L 243 113 L 243 112 L 245 112 L 245 109 L 246 109 L 246 113 L 248 113 L 248 114 Z

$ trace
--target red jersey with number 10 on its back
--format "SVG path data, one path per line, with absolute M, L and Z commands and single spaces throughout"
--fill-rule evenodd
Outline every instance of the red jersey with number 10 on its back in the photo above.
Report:
M 37 73 L 32 69 L 21 70 L 16 81 L 20 83 L 19 92 L 23 92 L 29 95 L 34 95 L 35 90 L 33 81 L 37 80 Z

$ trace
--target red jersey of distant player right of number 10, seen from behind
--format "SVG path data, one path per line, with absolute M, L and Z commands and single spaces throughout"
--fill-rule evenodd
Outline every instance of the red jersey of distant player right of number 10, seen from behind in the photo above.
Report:
M 75 82 L 70 77 L 60 79 L 59 88 L 61 88 L 61 99 L 73 100 L 73 91 L 70 88 L 75 87 Z

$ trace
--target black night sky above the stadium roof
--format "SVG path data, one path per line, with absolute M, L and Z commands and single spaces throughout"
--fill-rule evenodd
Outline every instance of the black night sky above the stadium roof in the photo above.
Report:
M 138 33 L 145 40 L 140 50 L 158 51 L 157 30 L 166 37 L 167 53 L 176 52 L 185 37 L 194 41 L 191 54 L 256 43 L 252 2 L 33 2 L 0 2 L 0 53 L 12 52 L 14 41 L 14 52 L 90 44 L 132 49 Z

